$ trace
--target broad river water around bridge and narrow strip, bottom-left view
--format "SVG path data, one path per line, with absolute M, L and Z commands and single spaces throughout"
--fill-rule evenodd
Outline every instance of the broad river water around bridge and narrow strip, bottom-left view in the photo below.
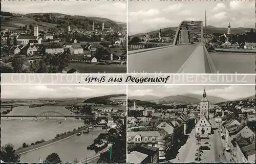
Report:
M 46 111 L 56 111 L 62 114 L 71 114 L 63 106 L 43 106 L 36 108 L 29 108 L 28 106 L 15 107 L 9 114 L 10 115 L 29 115 L 40 114 Z M 38 121 L 34 118 L 20 118 L 11 119 L 6 121 L 6 118 L 2 118 L 1 121 L 1 146 L 11 143 L 15 149 L 22 146 L 23 143 L 30 145 L 37 140 L 45 139 L 49 140 L 56 136 L 57 133 L 63 133 L 72 131 L 74 128 L 78 128 L 84 125 L 83 121 L 79 121 L 74 118 L 38 118 Z M 61 122 L 61 123 L 59 123 Z M 80 136 L 72 136 L 70 138 L 61 140 L 55 144 L 42 147 L 27 153 L 22 154 L 20 162 L 38 162 L 39 157 L 41 161 L 55 152 L 59 155 L 62 162 L 73 162 L 77 160 L 90 157 L 95 154 L 93 150 L 87 150 L 87 146 L 93 143 L 93 140 L 98 137 L 100 133 L 105 131 L 101 127 L 94 128 L 89 134 L 82 134 Z

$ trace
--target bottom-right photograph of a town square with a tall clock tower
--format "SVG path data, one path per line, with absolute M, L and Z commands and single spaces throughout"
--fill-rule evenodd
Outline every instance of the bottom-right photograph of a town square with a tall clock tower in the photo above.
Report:
M 255 86 L 133 85 L 127 163 L 255 163 Z

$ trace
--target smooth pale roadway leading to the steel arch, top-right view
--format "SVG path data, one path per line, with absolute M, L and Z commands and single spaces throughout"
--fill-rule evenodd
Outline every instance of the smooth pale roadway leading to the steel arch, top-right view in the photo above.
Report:
M 128 55 L 128 73 L 177 73 L 198 45 L 177 45 Z

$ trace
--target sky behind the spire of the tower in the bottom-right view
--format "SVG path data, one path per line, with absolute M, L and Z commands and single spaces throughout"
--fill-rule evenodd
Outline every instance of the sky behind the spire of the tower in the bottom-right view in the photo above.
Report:
M 217 96 L 227 100 L 237 100 L 255 95 L 255 86 L 241 85 L 129 85 L 128 99 L 132 96 L 153 95 L 160 98 L 166 96 L 184 95 L 195 93 L 203 95 L 205 88 L 206 95 Z

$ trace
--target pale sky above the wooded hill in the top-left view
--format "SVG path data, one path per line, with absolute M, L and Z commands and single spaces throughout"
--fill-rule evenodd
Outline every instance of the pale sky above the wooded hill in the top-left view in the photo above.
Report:
M 126 22 L 126 1 L 5 1 L 1 11 L 20 14 L 62 13 Z

